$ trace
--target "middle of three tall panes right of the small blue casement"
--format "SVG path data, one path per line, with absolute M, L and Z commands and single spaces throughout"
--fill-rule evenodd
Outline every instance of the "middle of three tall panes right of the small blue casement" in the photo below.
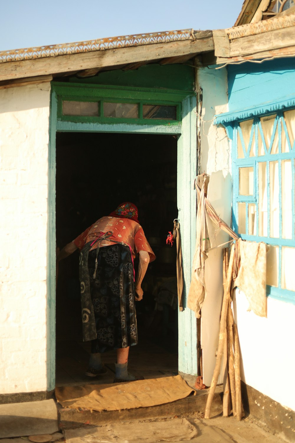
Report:
M 279 237 L 279 163 L 269 162 L 270 235 Z

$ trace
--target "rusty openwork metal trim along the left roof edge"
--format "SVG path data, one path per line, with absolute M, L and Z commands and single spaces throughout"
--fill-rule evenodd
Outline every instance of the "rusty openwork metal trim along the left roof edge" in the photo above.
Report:
M 129 46 L 151 45 L 154 43 L 169 43 L 190 39 L 195 39 L 193 29 L 106 37 L 104 39 L 94 39 L 85 42 L 61 43 L 59 45 L 2 51 L 0 52 L 0 63 L 18 62 L 20 60 L 30 60 L 33 58 L 56 57 L 57 55 L 78 54 L 80 52 L 104 51 Z

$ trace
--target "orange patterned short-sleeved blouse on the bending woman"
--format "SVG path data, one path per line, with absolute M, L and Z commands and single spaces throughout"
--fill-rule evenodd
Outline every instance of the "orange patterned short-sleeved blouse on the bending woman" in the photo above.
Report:
M 95 221 L 93 225 L 75 238 L 73 243 L 81 250 L 86 243 L 94 241 L 99 235 L 101 235 L 101 233 L 106 233 L 108 231 L 113 233 L 111 238 L 114 240 L 122 242 L 123 245 L 130 245 L 133 258 L 135 258 L 134 251 L 137 253 L 139 253 L 139 251 L 146 251 L 149 253 L 149 261 L 151 262 L 155 260 L 156 256 L 153 253 L 152 248 L 149 246 L 141 225 L 129 218 L 117 218 L 111 216 L 99 218 L 99 220 Z M 96 249 L 98 243 L 100 248 L 115 244 L 111 240 L 96 241 L 90 251 Z

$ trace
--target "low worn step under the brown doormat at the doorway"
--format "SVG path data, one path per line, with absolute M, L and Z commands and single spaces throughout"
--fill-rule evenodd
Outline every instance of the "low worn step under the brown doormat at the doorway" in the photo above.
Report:
M 217 386 L 212 402 L 211 416 L 222 412 L 222 386 Z M 187 417 L 195 413 L 204 413 L 208 397 L 208 390 L 197 391 L 184 399 L 171 403 L 149 406 L 146 408 L 130 408 L 120 411 L 82 411 L 59 406 L 59 429 L 90 425 L 105 425 L 118 421 L 147 420 L 160 418 Z

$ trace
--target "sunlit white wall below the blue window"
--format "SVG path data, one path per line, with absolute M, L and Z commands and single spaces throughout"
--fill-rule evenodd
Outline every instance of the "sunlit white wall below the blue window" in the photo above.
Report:
M 240 341 L 241 379 L 295 411 L 295 306 L 267 297 L 267 318 L 262 318 L 247 311 L 249 303 L 242 291 L 235 292 L 233 307 Z M 259 399 L 257 405 L 260 407 Z

